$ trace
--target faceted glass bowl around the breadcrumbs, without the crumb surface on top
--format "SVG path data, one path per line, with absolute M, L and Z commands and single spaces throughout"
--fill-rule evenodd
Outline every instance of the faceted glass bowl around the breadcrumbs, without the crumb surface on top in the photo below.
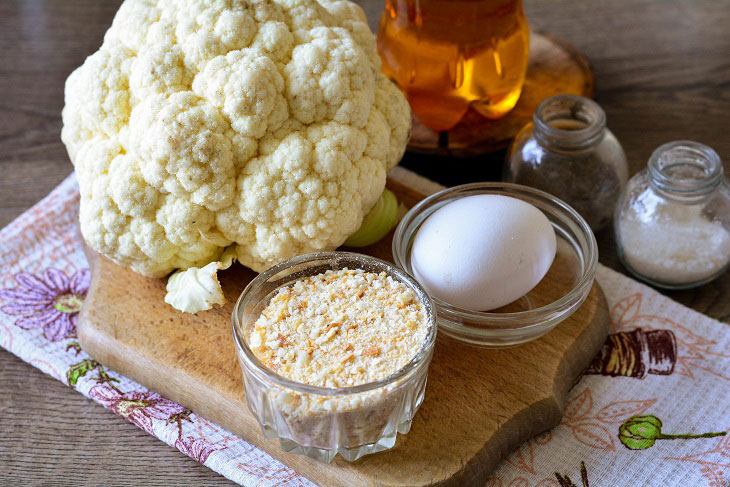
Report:
M 276 292 L 299 279 L 343 268 L 385 272 L 421 300 L 428 316 L 423 346 L 388 377 L 354 387 L 327 388 L 294 382 L 262 364 L 249 347 L 250 332 Z M 319 252 L 295 257 L 259 274 L 233 309 L 233 337 L 243 372 L 246 402 L 264 435 L 288 452 L 330 462 L 337 453 L 349 461 L 391 448 L 398 433 L 410 430 L 423 402 L 428 366 L 436 340 L 431 299 L 409 275 L 374 257 Z

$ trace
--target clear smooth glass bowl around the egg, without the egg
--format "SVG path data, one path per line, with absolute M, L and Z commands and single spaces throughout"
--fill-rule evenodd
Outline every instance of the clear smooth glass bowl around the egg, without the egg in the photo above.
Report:
M 421 224 L 449 202 L 478 194 L 511 196 L 542 211 L 555 229 L 555 260 L 534 289 L 496 310 L 470 311 L 434 297 L 439 331 L 472 345 L 520 345 L 544 335 L 583 304 L 593 285 L 598 265 L 596 239 L 578 212 L 548 193 L 510 183 L 465 184 L 426 198 L 403 217 L 393 237 L 396 265 L 413 274 L 411 247 Z

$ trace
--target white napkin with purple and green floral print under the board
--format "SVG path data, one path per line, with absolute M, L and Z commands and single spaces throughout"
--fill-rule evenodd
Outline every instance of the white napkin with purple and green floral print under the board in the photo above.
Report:
M 81 350 L 89 271 L 78 197 L 70 176 L 0 230 L 0 346 L 241 485 L 312 485 Z M 486 486 L 730 485 L 730 326 L 605 267 L 598 280 L 612 318 L 604 350 L 561 424 L 518 448 Z

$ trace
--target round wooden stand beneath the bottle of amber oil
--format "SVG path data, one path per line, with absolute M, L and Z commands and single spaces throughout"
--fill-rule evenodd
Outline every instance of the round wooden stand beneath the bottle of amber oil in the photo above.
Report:
M 544 99 L 565 93 L 593 97 L 594 78 L 588 60 L 565 41 L 531 32 L 529 59 L 520 99 L 506 116 L 488 120 L 469 109 L 447 137 L 440 137 L 414 116 L 408 150 L 458 158 L 498 151 L 532 121 Z

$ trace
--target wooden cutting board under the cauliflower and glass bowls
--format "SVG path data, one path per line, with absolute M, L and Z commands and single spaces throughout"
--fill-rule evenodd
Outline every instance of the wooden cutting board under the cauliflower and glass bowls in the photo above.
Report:
M 442 189 L 401 168 L 391 171 L 388 187 L 408 206 Z M 390 259 L 386 240 L 365 252 Z M 93 252 L 89 261 L 91 287 L 78 324 L 86 352 L 327 487 L 483 485 L 503 457 L 558 424 L 568 390 L 608 333 L 606 300 L 594 284 L 572 317 L 527 345 L 483 349 L 439 336 L 411 431 L 392 450 L 326 465 L 265 439 L 246 406 L 231 312 L 253 272 L 238 265 L 222 272 L 228 304 L 192 316 L 165 304 L 164 280 Z

